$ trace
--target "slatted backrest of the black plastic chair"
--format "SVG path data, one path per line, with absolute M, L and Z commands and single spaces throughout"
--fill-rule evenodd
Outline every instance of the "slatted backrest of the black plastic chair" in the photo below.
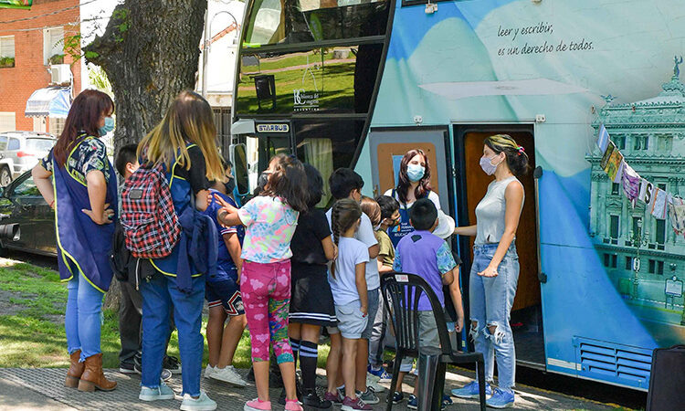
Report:
M 418 354 L 418 300 L 421 294 L 426 294 L 436 319 L 440 349 L 443 353 L 452 352 L 445 311 L 425 279 L 416 274 L 386 273 L 381 277 L 381 290 L 395 328 L 397 349 Z

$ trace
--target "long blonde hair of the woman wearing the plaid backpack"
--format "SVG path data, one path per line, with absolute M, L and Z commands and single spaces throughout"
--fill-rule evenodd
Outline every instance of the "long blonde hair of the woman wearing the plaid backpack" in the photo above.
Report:
M 190 170 L 187 143 L 194 143 L 205 156 L 209 181 L 226 181 L 224 166 L 216 150 L 214 112 L 209 103 L 195 91 L 184 90 L 174 99 L 164 118 L 138 145 L 138 156 L 148 163 L 174 162 Z

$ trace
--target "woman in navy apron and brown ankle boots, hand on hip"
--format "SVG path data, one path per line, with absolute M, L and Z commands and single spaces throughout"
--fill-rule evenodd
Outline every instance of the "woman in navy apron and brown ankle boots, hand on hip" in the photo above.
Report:
M 32 171 L 40 194 L 55 209 L 59 278 L 68 281 L 64 328 L 70 366 L 65 385 L 79 391 L 111 391 L 117 385 L 102 373 L 100 351 L 102 298 L 112 277 L 117 184 L 99 137 L 114 128 L 113 111 L 107 94 L 81 92 L 55 147 Z

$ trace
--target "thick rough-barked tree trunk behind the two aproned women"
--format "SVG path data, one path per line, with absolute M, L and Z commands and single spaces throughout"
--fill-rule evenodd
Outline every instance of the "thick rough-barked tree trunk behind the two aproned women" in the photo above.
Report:
M 206 0 L 126 0 L 105 33 L 84 47 L 111 82 L 115 155 L 140 142 L 181 90 L 194 89 L 206 6 Z M 120 288 L 112 280 L 105 308 L 118 308 Z

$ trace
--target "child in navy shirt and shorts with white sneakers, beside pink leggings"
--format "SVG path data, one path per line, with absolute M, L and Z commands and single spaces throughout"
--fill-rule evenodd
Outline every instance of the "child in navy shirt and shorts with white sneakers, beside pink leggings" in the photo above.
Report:
M 216 212 L 221 205 L 215 197 L 219 196 L 233 206 L 236 206 L 236 203 L 223 193 L 224 183 L 216 182 L 214 188 L 210 190 L 212 195 L 209 197 L 209 205 L 203 212 L 212 218 L 216 231 L 219 233 L 216 275 L 207 276 L 205 286 L 205 300 L 209 306 L 209 320 L 206 328 L 209 362 L 205 369 L 205 378 L 214 378 L 242 387 L 247 383 L 233 368 L 233 354 L 236 353 L 237 343 L 248 324 L 238 287 L 242 266 L 241 242 L 245 229 L 222 227 L 219 224 L 216 220 Z M 227 317 L 229 321 L 224 327 Z

